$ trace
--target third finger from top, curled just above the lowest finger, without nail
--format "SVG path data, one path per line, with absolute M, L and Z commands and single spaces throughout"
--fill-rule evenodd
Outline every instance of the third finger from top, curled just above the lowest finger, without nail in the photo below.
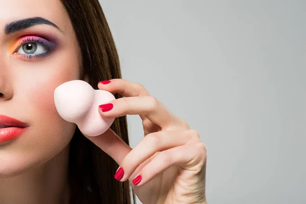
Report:
M 120 167 L 124 170 L 124 175 L 119 181 L 126 181 L 129 179 L 136 168 L 156 152 L 181 146 L 189 142 L 200 142 L 197 131 L 161 131 L 148 134 L 121 162 Z

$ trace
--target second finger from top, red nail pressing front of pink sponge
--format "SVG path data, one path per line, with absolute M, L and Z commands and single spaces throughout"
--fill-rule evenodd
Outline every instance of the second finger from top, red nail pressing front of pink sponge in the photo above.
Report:
M 123 97 L 100 105 L 101 116 L 115 118 L 124 115 L 145 115 L 150 121 L 166 129 L 177 117 L 153 96 Z

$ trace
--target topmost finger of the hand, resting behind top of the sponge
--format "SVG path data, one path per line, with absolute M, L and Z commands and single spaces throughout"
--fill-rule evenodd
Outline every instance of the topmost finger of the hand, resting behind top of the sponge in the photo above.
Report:
M 147 96 L 150 95 L 142 84 L 136 82 L 130 82 L 123 79 L 108 80 L 108 84 L 98 83 L 98 88 L 109 91 L 111 93 L 119 93 L 125 97 L 132 96 Z

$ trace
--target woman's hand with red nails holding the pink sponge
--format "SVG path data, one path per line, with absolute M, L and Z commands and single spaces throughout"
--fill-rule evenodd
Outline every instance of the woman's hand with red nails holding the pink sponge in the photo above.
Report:
M 115 178 L 129 180 L 144 204 L 207 203 L 207 153 L 199 133 L 141 84 L 113 79 L 98 88 L 124 96 L 97 107 L 101 116 L 139 115 L 143 124 L 145 137 L 134 149 L 111 129 L 97 137 L 86 136 L 118 163 Z

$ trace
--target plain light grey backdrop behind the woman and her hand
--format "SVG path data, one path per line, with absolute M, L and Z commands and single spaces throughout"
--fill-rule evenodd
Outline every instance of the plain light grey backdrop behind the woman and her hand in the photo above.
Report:
M 209 204 L 306 203 L 306 1 L 100 2 L 123 78 L 207 144 Z

